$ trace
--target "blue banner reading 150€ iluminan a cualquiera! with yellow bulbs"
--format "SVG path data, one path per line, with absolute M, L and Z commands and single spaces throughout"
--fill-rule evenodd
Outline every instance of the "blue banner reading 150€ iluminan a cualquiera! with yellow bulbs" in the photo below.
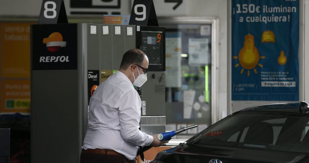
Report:
M 298 101 L 298 0 L 232 0 L 232 100 Z

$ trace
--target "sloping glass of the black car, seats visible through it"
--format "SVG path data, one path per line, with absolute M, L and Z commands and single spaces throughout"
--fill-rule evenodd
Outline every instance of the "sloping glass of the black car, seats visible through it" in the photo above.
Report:
M 238 112 L 187 143 L 309 153 L 308 121 L 300 113 Z

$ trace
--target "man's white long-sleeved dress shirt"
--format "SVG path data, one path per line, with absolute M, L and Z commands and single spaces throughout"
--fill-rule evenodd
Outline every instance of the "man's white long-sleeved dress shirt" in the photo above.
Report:
M 153 137 L 141 132 L 142 101 L 129 78 L 120 71 L 99 84 L 90 98 L 89 119 L 83 149 L 112 149 L 129 160 L 139 146 Z

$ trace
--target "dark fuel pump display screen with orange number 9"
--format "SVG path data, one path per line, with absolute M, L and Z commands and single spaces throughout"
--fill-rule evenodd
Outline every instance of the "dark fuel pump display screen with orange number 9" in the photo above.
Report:
M 142 31 L 142 51 L 148 56 L 149 64 L 162 65 L 162 32 Z

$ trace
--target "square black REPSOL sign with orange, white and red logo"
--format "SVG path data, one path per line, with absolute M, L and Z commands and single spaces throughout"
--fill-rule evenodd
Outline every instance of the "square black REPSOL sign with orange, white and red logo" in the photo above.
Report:
M 32 70 L 77 69 L 77 24 L 31 25 Z

